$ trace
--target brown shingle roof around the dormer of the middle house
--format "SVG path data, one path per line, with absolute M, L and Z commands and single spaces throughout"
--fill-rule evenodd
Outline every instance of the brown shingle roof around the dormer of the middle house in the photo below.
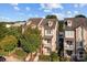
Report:
M 53 25 L 52 25 L 52 26 L 48 26 L 48 25 L 47 25 L 47 22 L 48 22 L 48 21 L 53 22 Z M 55 25 L 56 25 L 56 21 L 58 21 L 58 20 L 56 20 L 56 19 L 43 19 L 41 25 L 44 26 L 44 29 L 48 29 L 48 30 L 50 30 L 50 29 L 54 29 Z

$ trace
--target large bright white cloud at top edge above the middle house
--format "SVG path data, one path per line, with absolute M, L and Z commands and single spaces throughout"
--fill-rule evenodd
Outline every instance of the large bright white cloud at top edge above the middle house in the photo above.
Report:
M 42 9 L 63 9 L 59 3 L 41 3 Z

